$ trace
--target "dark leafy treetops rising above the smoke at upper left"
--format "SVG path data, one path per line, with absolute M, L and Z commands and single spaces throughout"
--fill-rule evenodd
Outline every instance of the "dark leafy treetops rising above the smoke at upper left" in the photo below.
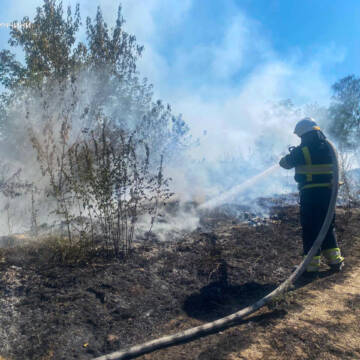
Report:
M 44 0 L 32 22 L 26 16 L 20 23 L 13 23 L 9 44 L 22 48 L 25 64 L 19 63 L 10 51 L 1 51 L 0 81 L 11 88 L 36 84 L 50 76 L 63 80 L 85 65 L 96 70 L 107 68 L 119 77 L 134 76 L 143 47 L 137 45 L 134 35 L 123 30 L 124 22 L 119 6 L 111 32 L 98 7 L 94 22 L 86 19 L 87 41 L 83 43 L 76 38 L 81 26 L 79 4 L 74 14 L 69 6 L 65 16 L 62 2 Z

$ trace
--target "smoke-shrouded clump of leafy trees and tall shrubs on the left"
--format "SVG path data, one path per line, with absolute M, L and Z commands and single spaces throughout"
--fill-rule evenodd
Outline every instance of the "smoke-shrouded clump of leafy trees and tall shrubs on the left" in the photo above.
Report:
M 30 181 L 53 199 L 70 243 L 74 230 L 84 240 L 90 228 L 95 239 L 91 219 L 97 217 L 118 254 L 126 229 L 130 246 L 137 211 L 145 215 L 148 204 L 156 209 L 168 196 L 163 165 L 186 144 L 188 127 L 169 105 L 154 101 L 152 85 L 140 79 L 136 61 L 143 48 L 124 31 L 121 7 L 111 29 L 100 8 L 94 20 L 87 18 L 84 42 L 77 39 L 78 5 L 65 15 L 61 2 L 44 0 L 31 24 L 28 17 L 16 24 L 9 43 L 23 50 L 25 61 L 0 52 L 1 149 L 26 169 L 37 157 L 44 178 L 35 170 Z M 91 163 L 86 168 L 79 168 L 78 150 Z

